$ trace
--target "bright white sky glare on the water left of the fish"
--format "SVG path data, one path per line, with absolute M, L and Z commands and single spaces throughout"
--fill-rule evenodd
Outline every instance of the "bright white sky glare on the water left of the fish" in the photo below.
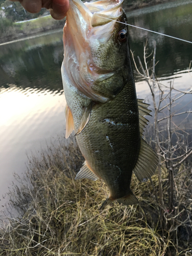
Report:
M 39 151 L 65 131 L 65 97 L 58 91 L 18 88 L 14 85 L 0 95 L 1 204 L 6 198 L 13 173 L 26 169 L 26 152 Z

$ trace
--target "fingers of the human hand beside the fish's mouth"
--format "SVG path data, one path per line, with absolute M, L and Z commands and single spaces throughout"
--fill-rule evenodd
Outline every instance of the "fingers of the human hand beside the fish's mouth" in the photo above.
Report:
M 12 2 L 20 2 L 24 9 L 30 13 L 38 13 L 41 8 L 50 11 L 54 19 L 62 19 L 66 16 L 69 9 L 69 0 L 11 0 Z

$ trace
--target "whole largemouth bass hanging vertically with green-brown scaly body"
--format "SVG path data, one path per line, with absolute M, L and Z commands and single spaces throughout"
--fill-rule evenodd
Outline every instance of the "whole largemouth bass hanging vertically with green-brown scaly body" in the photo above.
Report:
M 75 131 L 85 159 L 75 179 L 104 181 L 109 196 L 100 209 L 115 200 L 138 204 L 132 174 L 146 181 L 158 156 L 142 138 L 151 110 L 137 99 L 123 0 L 69 2 L 61 66 L 66 138 Z

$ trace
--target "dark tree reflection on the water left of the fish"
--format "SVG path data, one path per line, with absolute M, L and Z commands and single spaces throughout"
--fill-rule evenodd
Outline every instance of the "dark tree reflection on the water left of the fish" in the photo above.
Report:
M 61 91 L 60 67 L 63 59 L 62 32 L 2 46 L 0 88 L 17 87 Z M 4 53 L 4 54 L 3 54 Z

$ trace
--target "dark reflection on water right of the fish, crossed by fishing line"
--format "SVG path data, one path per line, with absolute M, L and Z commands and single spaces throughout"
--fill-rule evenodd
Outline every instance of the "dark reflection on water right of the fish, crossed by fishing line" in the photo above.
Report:
M 192 1 L 177 1 L 127 13 L 129 24 L 192 41 Z M 185 70 L 192 59 L 192 44 L 129 27 L 131 49 L 143 56 L 143 42 L 148 52 L 157 42 L 158 77 Z

